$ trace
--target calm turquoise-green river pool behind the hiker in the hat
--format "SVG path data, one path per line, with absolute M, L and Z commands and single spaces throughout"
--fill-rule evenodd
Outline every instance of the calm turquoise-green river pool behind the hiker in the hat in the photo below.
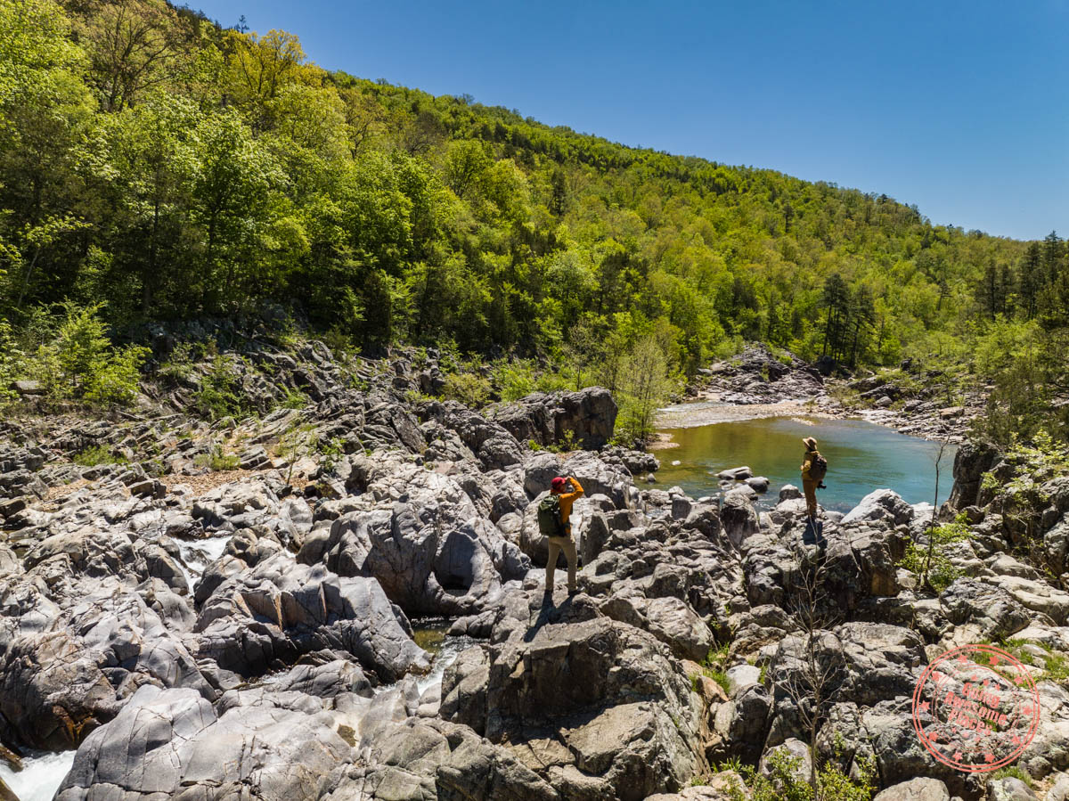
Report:
M 817 491 L 825 509 L 849 511 L 872 490 L 884 487 L 911 504 L 930 504 L 935 496 L 940 444 L 863 420 L 771 417 L 662 432 L 670 434 L 679 447 L 656 451 L 661 460 L 656 486 L 667 489 L 679 484 L 693 497 L 715 495 L 719 492 L 717 473 L 747 465 L 755 476 L 770 481 L 759 505 L 775 505 L 780 487 L 802 487 L 799 468 L 805 436 L 815 437 L 827 459 L 827 489 Z M 947 446 L 940 463 L 939 503 L 950 494 L 956 450 L 956 446 Z M 680 464 L 673 466 L 676 460 Z

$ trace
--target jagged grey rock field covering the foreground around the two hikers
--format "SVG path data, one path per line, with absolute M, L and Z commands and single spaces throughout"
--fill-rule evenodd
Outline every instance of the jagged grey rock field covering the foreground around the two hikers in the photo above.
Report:
M 972 536 L 935 594 L 898 565 L 931 507 L 873 487 L 818 542 L 792 487 L 761 513 L 642 489 L 656 462 L 606 445 L 603 389 L 477 412 L 415 394 L 433 354 L 224 356 L 259 418 L 185 414 L 196 366 L 134 415 L 0 425 L 0 759 L 76 750 L 61 801 L 747 798 L 737 766 L 808 775 L 789 689 L 817 641 L 837 669 L 811 744 L 873 766 L 880 801 L 1067 797 L 1069 479 L 963 447 L 944 515 Z M 547 449 L 566 438 L 584 449 Z M 559 473 L 587 491 L 583 569 L 547 603 L 534 512 Z M 795 599 L 818 580 L 815 628 Z M 421 647 L 428 616 L 467 647 Z M 985 641 L 1035 672 L 1035 790 L 914 731 L 925 666 Z

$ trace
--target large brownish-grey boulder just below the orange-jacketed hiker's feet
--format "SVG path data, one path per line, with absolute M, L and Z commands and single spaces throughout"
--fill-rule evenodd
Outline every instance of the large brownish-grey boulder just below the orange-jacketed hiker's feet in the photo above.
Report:
M 447 674 L 444 697 L 466 683 L 466 703 L 444 709 L 484 720 L 491 742 L 511 743 L 562 797 L 637 801 L 700 769 L 701 705 L 656 640 L 604 617 L 509 631 L 489 666 Z M 483 677 L 484 691 L 470 686 Z

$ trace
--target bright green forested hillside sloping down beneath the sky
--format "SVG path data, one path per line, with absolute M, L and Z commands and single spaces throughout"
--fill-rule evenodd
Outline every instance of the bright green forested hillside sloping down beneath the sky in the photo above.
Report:
M 0 0 L 0 334 L 24 343 L 60 302 L 113 332 L 269 302 L 360 346 L 647 340 L 692 372 L 743 338 L 971 358 L 1069 305 L 1053 234 L 331 73 L 159 0 Z

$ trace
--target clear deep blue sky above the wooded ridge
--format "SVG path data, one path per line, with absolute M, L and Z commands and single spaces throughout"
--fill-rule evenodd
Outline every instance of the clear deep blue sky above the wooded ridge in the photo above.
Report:
M 625 144 L 1069 234 L 1069 0 L 190 0 L 327 68 Z

